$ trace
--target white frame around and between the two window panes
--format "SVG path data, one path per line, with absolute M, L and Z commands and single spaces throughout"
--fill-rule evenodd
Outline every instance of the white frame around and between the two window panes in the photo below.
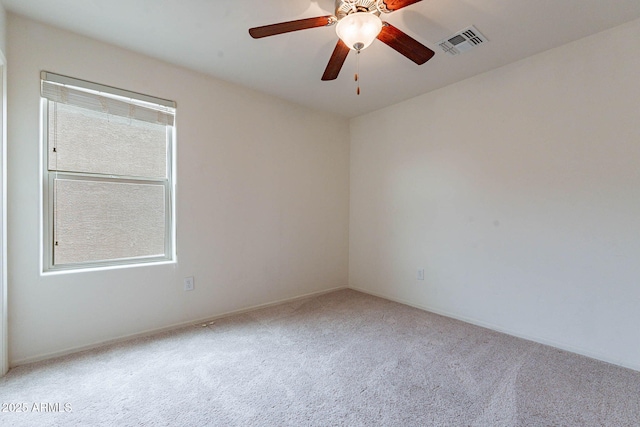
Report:
M 116 98 L 129 98 L 132 100 L 152 102 L 158 105 L 171 106 L 173 109 L 174 123 L 166 125 L 166 175 L 165 178 L 152 178 L 140 176 L 109 175 L 101 173 L 86 173 L 73 171 L 49 170 L 49 103 L 56 102 L 45 98 L 40 94 L 40 144 L 41 144 L 41 215 L 42 215 L 42 251 L 41 265 L 43 273 L 62 271 L 83 271 L 96 268 L 114 268 L 136 265 L 150 265 L 154 263 L 176 262 L 176 226 L 175 226 L 175 187 L 176 187 L 176 164 L 175 158 L 175 135 L 176 135 L 176 103 L 174 101 L 143 95 L 136 92 L 105 86 L 97 83 L 87 82 L 72 77 L 43 71 L 40 82 L 54 81 L 75 87 L 80 87 L 92 91 L 101 92 L 107 96 Z M 100 261 L 75 262 L 66 264 L 54 263 L 55 245 L 55 180 L 68 179 L 88 182 L 113 182 L 113 183 L 133 183 L 162 185 L 165 193 L 165 231 L 164 231 L 164 254 L 161 256 L 137 256 L 129 258 L 109 259 Z

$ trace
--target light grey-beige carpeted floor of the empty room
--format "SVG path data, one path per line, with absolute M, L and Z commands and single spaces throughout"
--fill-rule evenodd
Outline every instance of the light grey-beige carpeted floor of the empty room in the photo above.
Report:
M 0 396 L 3 426 L 640 426 L 640 372 L 352 290 L 21 366 Z

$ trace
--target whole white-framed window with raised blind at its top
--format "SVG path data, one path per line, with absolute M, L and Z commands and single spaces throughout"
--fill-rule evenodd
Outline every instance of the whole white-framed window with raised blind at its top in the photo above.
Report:
M 44 270 L 172 260 L 175 103 L 42 72 Z

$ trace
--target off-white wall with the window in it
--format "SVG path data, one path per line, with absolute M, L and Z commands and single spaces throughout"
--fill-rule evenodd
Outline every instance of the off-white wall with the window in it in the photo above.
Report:
M 12 364 L 347 285 L 348 121 L 11 14 L 8 44 Z M 177 101 L 177 264 L 40 274 L 41 70 Z

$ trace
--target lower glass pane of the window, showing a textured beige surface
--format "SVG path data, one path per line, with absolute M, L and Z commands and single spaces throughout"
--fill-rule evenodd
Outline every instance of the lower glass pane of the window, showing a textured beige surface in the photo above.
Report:
M 56 179 L 54 191 L 55 264 L 164 255 L 164 186 Z

